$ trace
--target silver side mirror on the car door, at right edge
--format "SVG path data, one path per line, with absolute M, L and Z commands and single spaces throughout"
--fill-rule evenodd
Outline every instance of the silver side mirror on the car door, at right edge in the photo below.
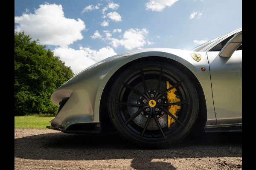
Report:
M 220 57 L 231 57 L 234 51 L 242 44 L 242 31 L 238 32 L 231 38 L 219 52 Z

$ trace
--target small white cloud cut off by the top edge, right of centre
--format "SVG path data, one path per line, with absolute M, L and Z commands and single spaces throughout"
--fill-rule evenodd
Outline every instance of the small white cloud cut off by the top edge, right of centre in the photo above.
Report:
M 145 4 L 146 10 L 161 12 L 166 6 L 172 6 L 178 0 L 149 0 Z

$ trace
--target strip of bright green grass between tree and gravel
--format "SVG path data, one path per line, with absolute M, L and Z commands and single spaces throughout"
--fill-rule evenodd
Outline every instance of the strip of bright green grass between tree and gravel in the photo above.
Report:
M 55 117 L 49 116 L 14 116 L 15 128 L 47 129 L 49 122 Z

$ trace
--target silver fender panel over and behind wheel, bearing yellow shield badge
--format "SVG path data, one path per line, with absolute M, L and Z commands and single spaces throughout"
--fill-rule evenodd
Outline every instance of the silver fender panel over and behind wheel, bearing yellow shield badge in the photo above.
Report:
M 201 59 L 196 61 L 193 59 L 193 54 L 200 54 Z M 186 68 L 188 68 L 198 79 L 204 92 L 206 106 L 207 106 L 207 122 L 206 125 L 215 125 L 216 116 L 214 111 L 214 104 L 212 99 L 212 85 L 210 79 L 209 62 L 207 58 L 207 52 L 200 51 L 185 51 L 172 48 L 146 48 L 136 51 L 129 51 L 126 53 L 119 54 L 120 56 L 128 57 L 131 61 L 142 58 L 142 57 L 166 57 L 173 59 Z M 205 68 L 202 71 L 202 68 Z

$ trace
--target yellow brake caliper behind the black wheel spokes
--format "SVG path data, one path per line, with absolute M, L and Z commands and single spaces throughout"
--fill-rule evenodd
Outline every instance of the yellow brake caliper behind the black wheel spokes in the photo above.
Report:
M 167 89 L 172 87 L 172 85 L 170 85 L 168 81 L 166 81 L 166 86 L 167 86 Z M 167 99 L 168 99 L 169 103 L 180 102 L 180 99 L 178 99 L 176 94 L 174 94 L 175 91 L 177 91 L 177 89 L 173 88 L 172 90 L 167 92 Z M 177 113 L 178 109 L 180 109 L 180 106 L 178 106 L 178 105 L 171 105 L 171 106 L 169 106 L 168 111 L 173 116 L 178 118 L 178 116 L 176 116 L 176 113 Z M 175 122 L 175 120 L 171 116 L 168 115 L 168 127 L 170 127 L 173 122 Z

